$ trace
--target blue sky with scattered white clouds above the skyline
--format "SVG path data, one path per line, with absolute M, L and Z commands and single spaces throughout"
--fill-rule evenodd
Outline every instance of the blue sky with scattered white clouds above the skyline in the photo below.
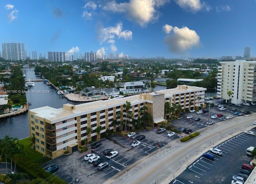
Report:
M 130 57 L 256 57 L 255 0 L 1 0 L 0 43 Z M 1 49 L 2 51 L 2 49 Z

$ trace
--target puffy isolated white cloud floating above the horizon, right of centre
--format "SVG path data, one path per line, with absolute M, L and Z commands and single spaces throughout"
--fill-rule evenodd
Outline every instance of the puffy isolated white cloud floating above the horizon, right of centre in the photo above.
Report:
M 163 26 L 164 31 L 165 27 L 168 27 L 166 25 Z M 172 34 L 164 38 L 164 44 L 169 47 L 171 53 L 182 54 L 188 49 L 199 47 L 201 43 L 196 31 L 188 29 L 188 27 L 173 27 Z

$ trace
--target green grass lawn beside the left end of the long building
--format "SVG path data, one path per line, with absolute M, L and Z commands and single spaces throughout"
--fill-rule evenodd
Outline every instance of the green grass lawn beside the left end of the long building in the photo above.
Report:
M 19 140 L 19 143 L 24 145 L 24 150 L 26 153 L 26 156 L 24 157 L 25 160 L 30 161 L 32 163 L 39 163 L 40 160 L 44 159 L 43 154 L 37 152 L 34 149 L 31 149 L 30 137 Z

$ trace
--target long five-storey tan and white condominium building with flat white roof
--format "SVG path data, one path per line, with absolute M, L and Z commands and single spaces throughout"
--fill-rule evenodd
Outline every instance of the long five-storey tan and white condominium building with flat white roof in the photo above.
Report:
M 99 100 L 79 105 L 64 104 L 63 108 L 49 106 L 29 110 L 30 136 L 35 136 L 35 149 L 52 159 L 63 155 L 65 151 L 72 153 L 88 142 L 105 136 L 106 131 L 116 132 L 120 128 L 113 125 L 113 120 L 125 121 L 124 104 L 130 102 L 134 119 L 142 117 L 143 106 L 152 115 L 152 126 L 160 126 L 164 119 L 164 103 L 180 104 L 186 111 L 204 104 L 206 88 L 180 85 L 177 88 L 160 90 L 147 94 L 139 94 L 124 98 Z M 198 102 L 197 97 L 202 99 Z M 194 103 L 191 103 L 194 102 Z M 122 113 L 122 114 L 121 114 Z M 132 118 L 127 119 L 129 122 Z M 128 129 L 132 128 L 127 123 Z M 97 134 L 96 128 L 102 130 Z M 87 134 L 87 128 L 92 132 Z M 134 128 L 134 127 L 133 127 Z

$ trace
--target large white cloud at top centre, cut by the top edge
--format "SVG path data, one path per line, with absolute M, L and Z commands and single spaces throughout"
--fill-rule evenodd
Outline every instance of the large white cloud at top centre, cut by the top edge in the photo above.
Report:
M 157 8 L 170 2 L 170 0 L 130 0 L 130 2 L 108 2 L 102 9 L 114 13 L 124 13 L 128 20 L 145 27 L 148 23 L 158 20 Z

